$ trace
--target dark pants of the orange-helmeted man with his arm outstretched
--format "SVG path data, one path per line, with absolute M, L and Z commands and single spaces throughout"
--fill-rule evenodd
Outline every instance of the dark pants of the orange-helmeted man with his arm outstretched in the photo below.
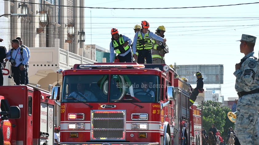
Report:
M 138 52 L 137 63 L 144 64 L 145 58 L 146 58 L 147 64 L 153 63 L 151 49 L 137 50 L 137 52 Z

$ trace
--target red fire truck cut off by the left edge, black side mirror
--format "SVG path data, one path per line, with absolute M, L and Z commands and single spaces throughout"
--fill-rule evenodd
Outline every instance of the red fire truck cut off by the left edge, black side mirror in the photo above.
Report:
M 30 85 L 1 86 L 0 100 L 0 145 L 53 145 L 50 92 Z

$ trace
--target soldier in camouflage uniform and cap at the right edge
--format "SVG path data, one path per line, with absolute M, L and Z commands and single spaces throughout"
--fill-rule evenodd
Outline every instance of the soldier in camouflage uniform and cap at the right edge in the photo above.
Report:
M 240 52 L 244 57 L 236 63 L 235 89 L 239 97 L 237 101 L 236 136 L 240 144 L 259 144 L 259 63 L 254 56 L 256 37 L 242 34 Z

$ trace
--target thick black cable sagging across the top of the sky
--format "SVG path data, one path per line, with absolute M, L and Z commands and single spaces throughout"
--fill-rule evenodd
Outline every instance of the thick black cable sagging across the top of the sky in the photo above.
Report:
M 19 2 L 19 1 L 12 1 L 12 0 L 4 0 L 4 1 Z M 24 3 L 40 4 L 40 3 L 34 3 L 34 2 L 24 2 Z M 52 5 L 52 4 L 40 4 L 40 5 L 45 5 L 45 6 L 63 6 L 63 7 L 74 7 L 74 8 L 89 8 L 89 9 L 151 10 L 151 9 L 187 9 L 187 8 L 207 8 L 207 7 L 221 7 L 221 6 L 238 6 L 238 5 L 249 5 L 249 4 L 257 4 L 257 3 L 259 3 L 259 2 L 232 4 L 232 5 L 171 7 L 171 8 L 106 8 L 106 7 L 87 7 L 87 6 L 64 6 L 64 5 Z

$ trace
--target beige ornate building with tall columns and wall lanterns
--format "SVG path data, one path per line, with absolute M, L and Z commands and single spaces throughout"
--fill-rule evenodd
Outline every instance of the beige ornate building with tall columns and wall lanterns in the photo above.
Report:
M 95 47 L 84 45 L 84 8 L 79 8 L 84 6 L 84 0 L 0 0 L 0 3 L 4 4 L 0 6 L 0 15 L 4 14 L 0 19 L 6 28 L 0 31 L 0 38 L 4 39 L 1 45 L 9 49 L 10 41 L 21 37 L 29 47 L 31 85 L 48 90 L 49 84 L 62 83 L 62 74 L 56 73 L 58 69 L 95 62 L 95 53 L 89 54 Z M 13 79 L 4 76 L 4 85 L 14 85 Z

